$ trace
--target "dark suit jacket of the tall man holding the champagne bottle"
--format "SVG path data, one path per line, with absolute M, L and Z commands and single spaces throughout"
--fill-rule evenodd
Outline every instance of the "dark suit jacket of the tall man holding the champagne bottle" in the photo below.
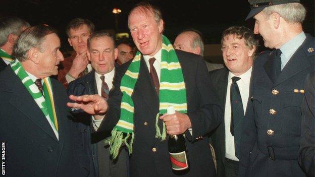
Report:
M 190 170 L 184 176 L 214 176 L 211 150 L 206 138 L 198 138 L 214 130 L 222 120 L 222 110 L 213 91 L 201 56 L 176 50 L 186 85 L 188 112 L 192 136 L 186 131 Z M 110 92 L 109 110 L 100 129 L 111 130 L 120 117 L 122 92 L 120 81 L 129 63 L 116 71 L 114 89 Z M 132 95 L 134 102 L 134 142 L 130 156 L 130 176 L 175 176 L 171 169 L 166 141 L 155 138 L 155 116 L 159 98 L 153 87 L 148 68 L 141 58 L 138 81 Z M 162 121 L 159 121 L 160 126 Z M 162 130 L 162 127 L 161 127 Z M 153 148 L 155 148 L 153 150 Z M 156 151 L 155 151 L 156 150 Z

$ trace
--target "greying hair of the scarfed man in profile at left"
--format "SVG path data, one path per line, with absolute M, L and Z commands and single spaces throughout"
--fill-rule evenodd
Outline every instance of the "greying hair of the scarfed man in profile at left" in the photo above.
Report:
M 57 31 L 47 25 L 37 25 L 27 28 L 21 33 L 15 43 L 12 55 L 20 62 L 23 62 L 28 60 L 27 52 L 31 48 L 38 48 L 40 52 L 43 52 L 41 44 L 45 40 L 45 37 L 51 33 L 57 34 Z

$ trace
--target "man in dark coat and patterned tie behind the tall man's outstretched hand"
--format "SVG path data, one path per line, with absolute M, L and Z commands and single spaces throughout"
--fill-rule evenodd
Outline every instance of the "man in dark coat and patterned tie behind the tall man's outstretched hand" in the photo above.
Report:
M 87 57 L 93 70 L 70 82 L 68 95 L 98 94 L 107 100 L 109 91 L 113 88 L 115 59 L 118 55 L 113 36 L 104 31 L 97 31 L 87 40 L 87 48 Z M 103 116 L 93 116 L 80 109 L 73 109 L 72 113 L 76 119 L 77 128 L 82 132 L 78 138 L 84 140 L 85 153 L 92 162 L 89 176 L 127 176 L 127 151 L 122 149 L 119 157 L 112 161 L 109 153 L 110 146 L 104 142 L 111 136 L 111 132 L 98 131 Z

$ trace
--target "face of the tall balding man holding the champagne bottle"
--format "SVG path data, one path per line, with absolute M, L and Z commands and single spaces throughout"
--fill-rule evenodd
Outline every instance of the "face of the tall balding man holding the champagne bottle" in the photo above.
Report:
M 138 7 L 128 18 L 132 39 L 144 55 L 153 56 L 162 48 L 163 20 L 155 21 L 151 11 Z

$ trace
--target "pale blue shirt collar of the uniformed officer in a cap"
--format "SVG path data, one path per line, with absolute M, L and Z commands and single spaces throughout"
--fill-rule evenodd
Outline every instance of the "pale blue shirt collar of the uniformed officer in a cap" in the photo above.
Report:
M 297 50 L 297 48 L 302 45 L 303 41 L 306 39 L 305 33 L 302 31 L 297 36 L 293 37 L 288 42 L 284 43 L 280 50 L 286 58 L 292 56 L 292 54 Z

